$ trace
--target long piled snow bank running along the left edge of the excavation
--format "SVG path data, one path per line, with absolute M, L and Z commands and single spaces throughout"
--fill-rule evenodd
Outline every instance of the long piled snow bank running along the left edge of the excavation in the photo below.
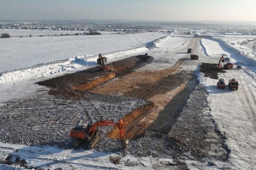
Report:
M 161 45 L 162 41 L 167 39 L 169 36 L 157 38 L 153 41 L 147 42 L 146 46 L 139 46 L 126 50 L 113 51 L 109 53 L 101 53 L 102 56 L 107 57 L 108 62 L 113 62 L 119 59 L 130 57 L 134 54 L 145 54 L 149 48 L 157 47 Z M 176 37 L 177 39 L 180 39 Z M 184 45 L 185 39 L 176 41 L 175 44 L 169 46 L 170 49 L 174 49 Z M 0 74 L 0 89 L 7 88 L 9 86 L 21 84 L 37 80 L 39 78 L 51 77 L 60 75 L 60 73 L 68 73 L 72 71 L 78 71 L 82 69 L 88 69 L 93 66 L 97 66 L 98 55 L 79 55 L 72 56 L 65 60 L 47 61 L 34 66 L 20 68 L 16 70 L 4 71 Z

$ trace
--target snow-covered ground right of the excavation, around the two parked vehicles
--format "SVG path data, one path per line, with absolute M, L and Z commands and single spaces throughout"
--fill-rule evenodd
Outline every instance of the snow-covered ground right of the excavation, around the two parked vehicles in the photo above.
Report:
M 224 54 L 230 62 L 235 65 L 242 65 L 242 69 L 232 69 L 225 73 L 219 74 L 224 78 L 226 83 L 232 77 L 239 82 L 237 91 L 229 89 L 216 89 L 216 80 L 200 76 L 209 92 L 208 101 L 211 108 L 211 114 L 217 121 L 220 131 L 227 136 L 227 144 L 231 149 L 229 162 L 234 168 L 254 169 L 255 164 L 255 55 L 250 51 L 244 52 L 244 48 L 239 45 L 231 47 L 226 46 L 219 40 L 203 39 L 206 54 L 215 57 L 216 54 Z M 214 46 L 210 48 L 210 46 Z M 234 47 L 234 48 L 233 48 Z M 248 48 L 249 46 L 247 46 Z M 228 60 L 227 59 L 227 60 Z

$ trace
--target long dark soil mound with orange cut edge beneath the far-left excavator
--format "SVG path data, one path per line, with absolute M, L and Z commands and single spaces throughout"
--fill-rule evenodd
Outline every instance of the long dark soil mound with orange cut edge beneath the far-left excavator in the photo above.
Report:
M 80 96 L 74 90 L 84 91 L 106 82 L 116 76 L 123 76 L 134 69 L 153 61 L 149 55 L 137 55 L 109 63 L 110 69 L 102 71 L 100 66 L 89 68 L 75 73 L 65 74 L 55 78 L 37 82 L 39 85 L 52 87 L 49 94 L 66 95 L 68 97 Z

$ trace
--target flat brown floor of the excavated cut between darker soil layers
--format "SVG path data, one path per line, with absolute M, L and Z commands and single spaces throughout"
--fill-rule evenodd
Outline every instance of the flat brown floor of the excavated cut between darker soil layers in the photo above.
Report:
M 149 126 L 151 127 L 148 130 L 166 132 L 170 130 L 177 120 L 182 110 L 182 105 L 185 104 L 186 97 L 188 97 L 195 85 L 195 83 L 190 83 L 191 86 L 187 87 L 189 90 L 186 89 L 179 93 L 184 90 L 185 84 L 193 74 L 191 69 L 179 69 L 184 61 L 185 64 L 189 62 L 184 57 L 178 60 L 174 66 L 167 69 L 131 72 L 115 81 L 100 85 L 98 88 L 90 89 L 89 91 L 115 95 L 118 93 L 129 97 L 144 98 L 152 101 L 157 106 L 154 110 L 148 111 L 137 118 L 135 117 L 133 123 L 126 127 L 127 138 L 142 134 Z M 177 99 L 171 102 L 176 95 L 178 95 Z M 172 121 L 172 123 L 167 123 L 169 121 Z

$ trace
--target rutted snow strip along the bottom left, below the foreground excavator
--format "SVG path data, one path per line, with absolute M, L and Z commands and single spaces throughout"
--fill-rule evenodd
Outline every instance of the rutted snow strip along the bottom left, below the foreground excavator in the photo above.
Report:
M 26 169 L 53 169 L 53 167 L 59 167 L 54 169 L 62 169 L 63 164 L 68 164 L 72 169 L 119 169 L 116 168 L 110 161 L 102 162 L 102 160 L 91 159 L 90 156 L 72 156 L 72 155 L 63 155 L 62 153 L 54 153 L 56 156 L 65 157 L 65 159 L 56 159 L 51 158 L 46 155 L 38 155 L 36 152 L 30 150 L 30 153 L 26 155 L 26 161 L 22 159 L 21 155 L 24 155 L 22 152 L 28 152 L 28 150 L 17 149 L 15 152 L 6 152 L 4 153 L 7 157 L 5 160 L 0 159 L 0 163 L 6 163 L 14 167 L 26 168 Z M 77 163 L 83 162 L 83 163 Z M 32 164 L 32 165 L 28 165 Z M 102 165 L 100 165 L 102 164 Z M 35 166 L 37 165 L 37 166 Z

